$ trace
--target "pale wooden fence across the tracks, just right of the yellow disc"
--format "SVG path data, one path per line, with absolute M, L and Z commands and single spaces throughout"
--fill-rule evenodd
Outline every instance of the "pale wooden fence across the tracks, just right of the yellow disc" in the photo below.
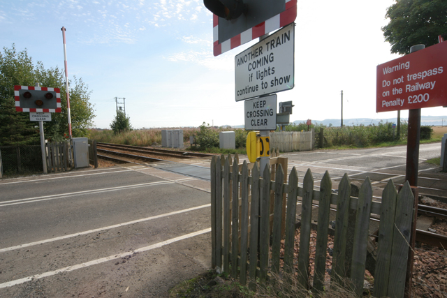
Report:
M 311 131 L 280 131 L 270 134 L 270 147 L 281 152 L 310 151 L 314 148 L 314 129 Z

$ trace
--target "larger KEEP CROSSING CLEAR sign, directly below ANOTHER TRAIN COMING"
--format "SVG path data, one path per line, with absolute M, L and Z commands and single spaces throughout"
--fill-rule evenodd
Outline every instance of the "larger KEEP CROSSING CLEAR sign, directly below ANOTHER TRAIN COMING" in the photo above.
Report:
M 277 95 L 245 100 L 245 130 L 274 131 L 277 129 Z

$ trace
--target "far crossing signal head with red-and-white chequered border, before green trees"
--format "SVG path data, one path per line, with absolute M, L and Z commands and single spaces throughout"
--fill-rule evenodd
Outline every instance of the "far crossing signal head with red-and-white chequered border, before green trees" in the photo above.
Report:
M 17 112 L 61 112 L 59 88 L 14 86 Z

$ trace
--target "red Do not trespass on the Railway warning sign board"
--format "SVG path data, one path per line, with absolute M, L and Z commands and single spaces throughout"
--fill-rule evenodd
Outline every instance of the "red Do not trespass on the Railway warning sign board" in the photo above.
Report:
M 447 105 L 447 43 L 377 66 L 376 112 Z

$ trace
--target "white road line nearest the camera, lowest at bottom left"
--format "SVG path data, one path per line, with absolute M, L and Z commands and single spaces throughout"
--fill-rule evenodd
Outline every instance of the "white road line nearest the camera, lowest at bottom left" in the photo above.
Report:
M 184 239 L 195 237 L 195 236 L 198 236 L 200 234 L 205 234 L 205 233 L 210 232 L 210 231 L 211 231 L 211 228 L 207 228 L 205 230 L 200 230 L 200 231 L 193 232 L 193 233 L 190 233 L 190 234 L 184 234 L 182 236 L 175 237 L 175 238 L 172 238 L 172 239 L 168 239 L 166 241 L 161 241 L 161 242 L 156 243 L 156 244 L 152 244 L 152 245 L 149 245 L 149 246 L 138 248 L 135 251 L 129 251 L 129 252 L 126 252 L 126 253 L 119 253 L 117 255 L 110 255 L 110 256 L 105 257 L 105 258 L 101 258 L 101 259 L 97 259 L 97 260 L 91 260 L 89 262 L 84 262 L 84 263 L 81 263 L 81 264 L 78 264 L 78 265 L 68 266 L 68 267 L 57 269 L 57 270 L 54 270 L 54 271 L 47 271 L 47 272 L 45 272 L 43 274 L 35 274 L 33 276 L 27 276 L 25 278 L 16 279 L 15 281 L 8 281 L 6 283 L 0 283 L 0 289 L 1 288 L 12 287 L 13 285 L 20 285 L 20 284 L 26 283 L 28 281 L 33 281 L 34 279 L 40 279 L 40 278 L 44 278 L 44 277 L 48 277 L 48 276 L 53 276 L 53 275 L 56 275 L 56 274 L 59 274 L 59 273 L 62 273 L 62 272 L 70 272 L 70 271 L 74 271 L 76 269 L 81 269 L 81 268 L 85 268 L 85 267 L 89 267 L 89 266 L 93 266 L 93 265 L 98 265 L 98 264 L 101 264 L 101 263 L 104 263 L 104 262 L 108 262 L 108 261 L 111 261 L 111 260 L 124 258 L 124 257 L 127 257 L 129 255 L 133 255 L 133 253 L 142 253 L 142 252 L 145 252 L 145 251 L 151 251 L 152 249 L 161 248 L 162 246 L 166 246 L 168 244 L 172 244 L 172 243 L 177 242 L 177 241 L 181 241 L 181 240 L 184 240 Z

